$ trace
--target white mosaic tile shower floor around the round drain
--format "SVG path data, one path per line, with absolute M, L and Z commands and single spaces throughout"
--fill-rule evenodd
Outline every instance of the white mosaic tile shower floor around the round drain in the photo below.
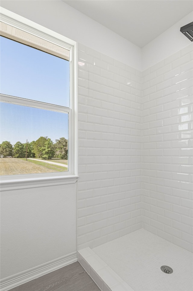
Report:
M 136 291 L 193 290 L 192 253 L 144 229 L 92 250 Z M 163 273 L 163 265 L 173 273 Z

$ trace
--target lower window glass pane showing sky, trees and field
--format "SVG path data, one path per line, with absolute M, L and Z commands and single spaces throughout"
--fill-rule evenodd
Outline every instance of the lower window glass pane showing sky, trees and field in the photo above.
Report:
M 1 175 L 68 171 L 68 113 L 0 104 Z

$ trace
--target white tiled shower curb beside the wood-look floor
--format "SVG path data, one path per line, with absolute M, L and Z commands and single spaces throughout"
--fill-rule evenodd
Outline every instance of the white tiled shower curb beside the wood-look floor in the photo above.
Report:
M 90 247 L 79 250 L 77 258 L 102 291 L 134 291 Z

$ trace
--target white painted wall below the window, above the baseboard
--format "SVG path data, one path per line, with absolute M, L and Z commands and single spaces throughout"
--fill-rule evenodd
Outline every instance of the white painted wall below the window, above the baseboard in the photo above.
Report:
M 2 191 L 2 279 L 76 252 L 76 184 Z

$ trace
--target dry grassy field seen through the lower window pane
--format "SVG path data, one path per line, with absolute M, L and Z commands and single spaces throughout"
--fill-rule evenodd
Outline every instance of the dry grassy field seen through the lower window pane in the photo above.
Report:
M 55 162 L 55 160 L 54 161 L 52 160 L 52 162 Z M 26 159 L 15 159 L 15 158 L 0 159 L 0 175 L 19 175 L 19 174 L 35 174 L 35 173 L 65 172 L 65 171 L 68 171 L 68 168 L 52 164 L 46 164 L 45 162 L 33 160 L 28 160 L 26 162 Z

